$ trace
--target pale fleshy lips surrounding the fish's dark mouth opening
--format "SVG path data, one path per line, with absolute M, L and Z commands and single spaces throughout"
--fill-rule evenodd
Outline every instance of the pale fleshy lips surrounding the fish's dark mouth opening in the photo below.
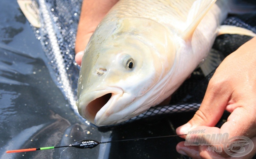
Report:
M 89 103 L 109 93 L 111 93 L 112 95 L 108 100 L 108 102 L 96 113 L 95 117 L 92 117 L 92 115 L 87 111 Z M 86 97 L 86 98 L 90 98 L 90 100 L 86 102 L 80 102 L 80 104 L 77 105 L 79 114 L 85 119 L 87 119 L 89 122 L 91 122 L 92 124 L 98 125 L 97 123 L 99 123 L 100 117 L 103 114 L 104 116 L 106 115 L 105 112 L 110 107 L 110 105 L 112 105 L 112 102 L 116 101 L 122 95 L 123 95 L 123 90 L 119 87 L 107 87 L 105 89 L 87 92 L 84 95 L 82 95 L 80 98 L 83 99 L 84 97 Z

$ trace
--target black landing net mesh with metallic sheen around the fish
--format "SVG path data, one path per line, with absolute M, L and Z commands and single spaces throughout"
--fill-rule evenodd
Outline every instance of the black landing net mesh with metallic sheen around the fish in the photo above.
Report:
M 82 0 L 37 0 L 34 3 L 39 6 L 42 23 L 41 28 L 34 28 L 36 37 L 41 40 L 45 55 L 55 72 L 53 78 L 56 78 L 58 86 L 77 112 L 75 101 L 79 66 L 74 60 L 74 48 Z M 244 27 L 256 33 L 256 22 L 252 20 L 255 18 L 256 14 L 232 15 L 224 21 L 224 24 Z M 236 34 L 220 35 L 211 51 L 223 60 L 250 39 L 251 37 Z M 213 73 L 214 71 L 205 77 L 200 68 L 197 68 L 172 95 L 170 105 L 152 107 L 129 121 L 176 112 L 196 111 Z

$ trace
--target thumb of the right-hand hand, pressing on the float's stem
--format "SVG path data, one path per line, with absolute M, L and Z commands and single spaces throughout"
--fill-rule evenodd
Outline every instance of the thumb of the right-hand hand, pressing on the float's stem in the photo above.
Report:
M 217 72 L 217 70 L 216 70 Z M 207 87 L 204 99 L 199 110 L 187 124 L 176 129 L 177 134 L 186 134 L 190 129 L 197 126 L 215 126 L 220 120 L 225 107 L 228 103 L 230 93 L 228 84 L 215 80 L 218 77 L 212 77 Z M 215 81 L 218 81 L 217 83 Z

